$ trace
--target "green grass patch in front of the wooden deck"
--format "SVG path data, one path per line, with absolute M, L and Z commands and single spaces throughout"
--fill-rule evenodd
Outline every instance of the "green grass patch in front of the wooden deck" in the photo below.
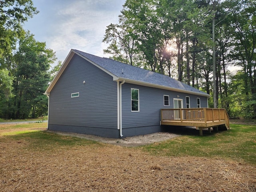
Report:
M 183 135 L 143 146 L 160 156 L 224 158 L 256 164 L 256 126 L 232 124 L 231 129 L 207 136 Z

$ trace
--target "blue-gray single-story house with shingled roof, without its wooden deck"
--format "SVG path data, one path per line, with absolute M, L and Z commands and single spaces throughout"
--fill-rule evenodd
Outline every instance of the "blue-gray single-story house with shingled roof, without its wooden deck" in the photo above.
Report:
M 168 76 L 73 49 L 45 94 L 49 130 L 110 138 L 160 132 L 160 109 L 207 108 L 209 97 Z

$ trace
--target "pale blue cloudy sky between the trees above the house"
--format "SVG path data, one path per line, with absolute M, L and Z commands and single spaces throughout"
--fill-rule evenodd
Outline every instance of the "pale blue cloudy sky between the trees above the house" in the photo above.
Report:
M 24 29 L 56 52 L 64 62 L 71 49 L 100 57 L 107 44 L 102 43 L 106 27 L 118 23 L 125 0 L 33 0 L 39 13 L 28 19 Z

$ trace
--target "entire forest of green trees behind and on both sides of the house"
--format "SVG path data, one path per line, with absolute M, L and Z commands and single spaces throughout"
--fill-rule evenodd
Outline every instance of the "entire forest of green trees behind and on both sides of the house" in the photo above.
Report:
M 22 28 L 38 11 L 4 0 L 0 13 L 0 118 L 47 114 L 43 93 L 61 62 L 51 68 L 54 51 Z M 255 0 L 126 0 L 103 42 L 114 60 L 205 91 L 232 118 L 256 118 Z

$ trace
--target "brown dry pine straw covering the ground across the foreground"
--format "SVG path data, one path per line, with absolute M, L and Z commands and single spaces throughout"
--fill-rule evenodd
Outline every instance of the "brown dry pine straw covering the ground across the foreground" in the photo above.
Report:
M 159 157 L 109 144 L 31 150 L 0 142 L 2 192 L 251 192 L 256 167 L 220 159 Z

